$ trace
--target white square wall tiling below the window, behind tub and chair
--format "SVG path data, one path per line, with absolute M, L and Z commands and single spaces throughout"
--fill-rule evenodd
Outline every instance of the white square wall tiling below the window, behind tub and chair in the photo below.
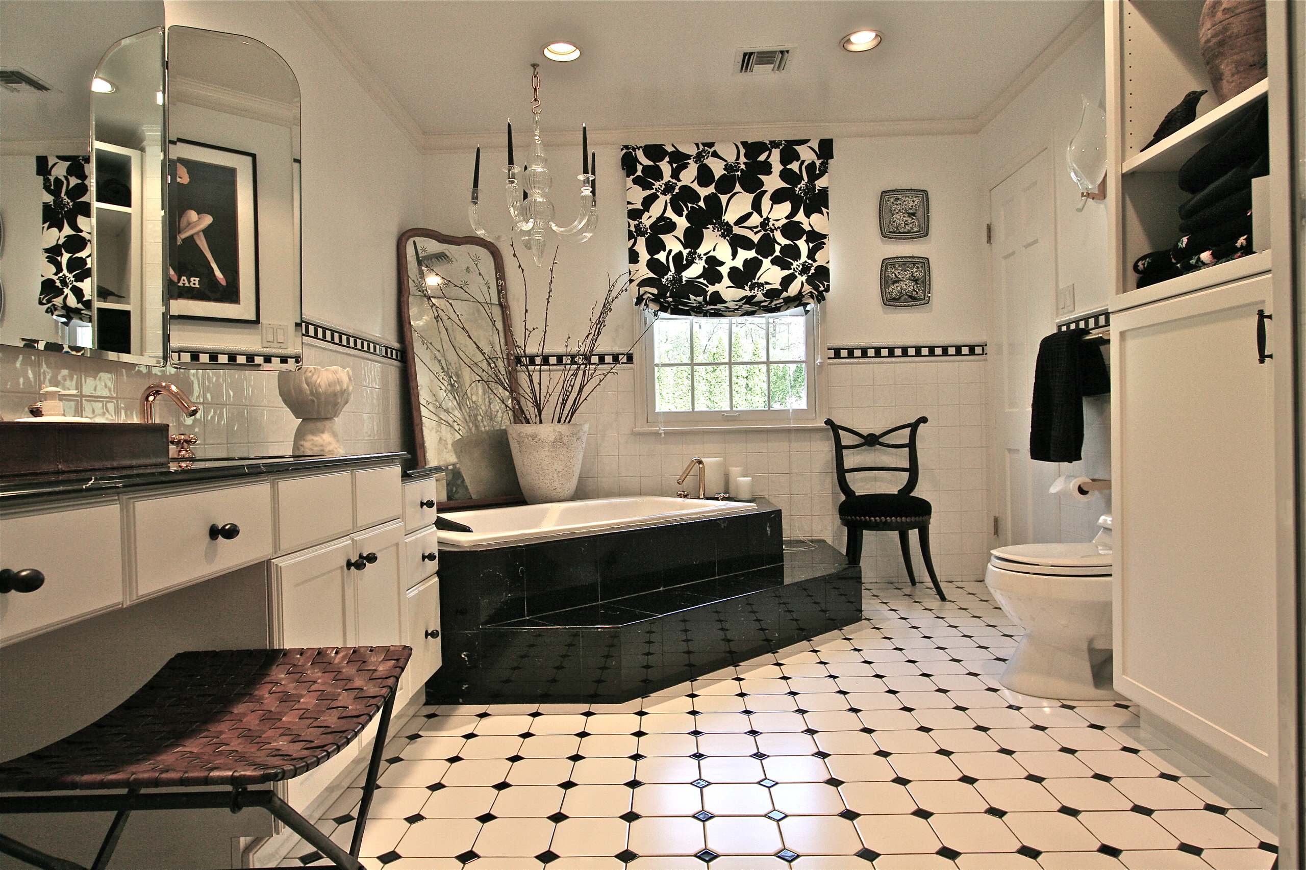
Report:
M 916 494 L 934 506 L 930 543 L 942 579 L 974 580 L 989 560 L 985 358 L 942 362 L 825 363 L 829 417 L 859 431 L 879 431 L 925 415 L 921 479 Z M 671 495 L 693 456 L 720 456 L 754 481 L 754 494 L 784 511 L 788 537 L 831 541 L 842 549 L 842 495 L 835 483 L 829 430 L 692 431 L 635 434 L 633 366 L 623 366 L 585 404 L 576 422 L 590 425 L 577 498 Z M 897 451 L 883 451 L 897 465 Z M 892 491 L 902 475 L 862 474 L 861 491 Z M 1096 517 L 1094 517 L 1096 519 Z M 916 536 L 913 536 L 913 542 Z M 923 576 L 913 543 L 917 577 Z M 867 579 L 906 579 L 897 536 L 868 534 Z

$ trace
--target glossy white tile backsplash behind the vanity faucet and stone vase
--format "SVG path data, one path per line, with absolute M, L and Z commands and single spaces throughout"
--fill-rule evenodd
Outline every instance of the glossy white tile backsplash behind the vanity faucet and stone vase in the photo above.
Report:
M 332 345 L 304 341 L 304 364 L 341 366 L 354 375 L 354 395 L 340 415 L 341 442 L 347 453 L 405 449 L 409 431 L 404 366 Z M 64 404 L 69 414 L 104 422 L 137 422 L 146 384 L 168 380 L 201 411 L 183 421 L 168 401 L 157 404 L 155 418 L 172 432 L 200 436 L 200 456 L 289 453 L 298 421 L 277 393 L 276 372 L 240 370 L 178 370 L 132 366 L 68 354 L 0 347 L 0 417 L 27 415 L 46 385 L 73 391 Z

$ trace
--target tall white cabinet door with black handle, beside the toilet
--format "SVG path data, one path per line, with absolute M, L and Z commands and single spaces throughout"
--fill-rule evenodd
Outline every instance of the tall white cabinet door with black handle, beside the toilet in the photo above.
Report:
M 1115 690 L 1273 782 L 1269 293 L 1260 276 L 1111 316 L 1113 600 Z

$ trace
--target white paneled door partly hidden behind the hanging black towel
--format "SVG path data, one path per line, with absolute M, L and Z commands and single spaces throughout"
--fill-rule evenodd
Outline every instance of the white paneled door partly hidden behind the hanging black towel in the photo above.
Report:
M 1051 154 L 1042 152 L 989 193 L 993 312 L 994 513 L 1000 543 L 1060 538 L 1047 496 L 1058 466 L 1029 459 L 1029 406 L 1038 341 L 1055 328 L 1057 239 Z M 1037 507 L 1036 507 L 1037 506 Z

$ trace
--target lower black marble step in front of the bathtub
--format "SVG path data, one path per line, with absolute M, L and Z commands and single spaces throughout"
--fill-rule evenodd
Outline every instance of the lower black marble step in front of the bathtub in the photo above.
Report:
M 861 568 L 828 543 L 790 545 L 777 563 L 613 601 L 475 628 L 445 615 L 427 698 L 626 701 L 861 619 Z

